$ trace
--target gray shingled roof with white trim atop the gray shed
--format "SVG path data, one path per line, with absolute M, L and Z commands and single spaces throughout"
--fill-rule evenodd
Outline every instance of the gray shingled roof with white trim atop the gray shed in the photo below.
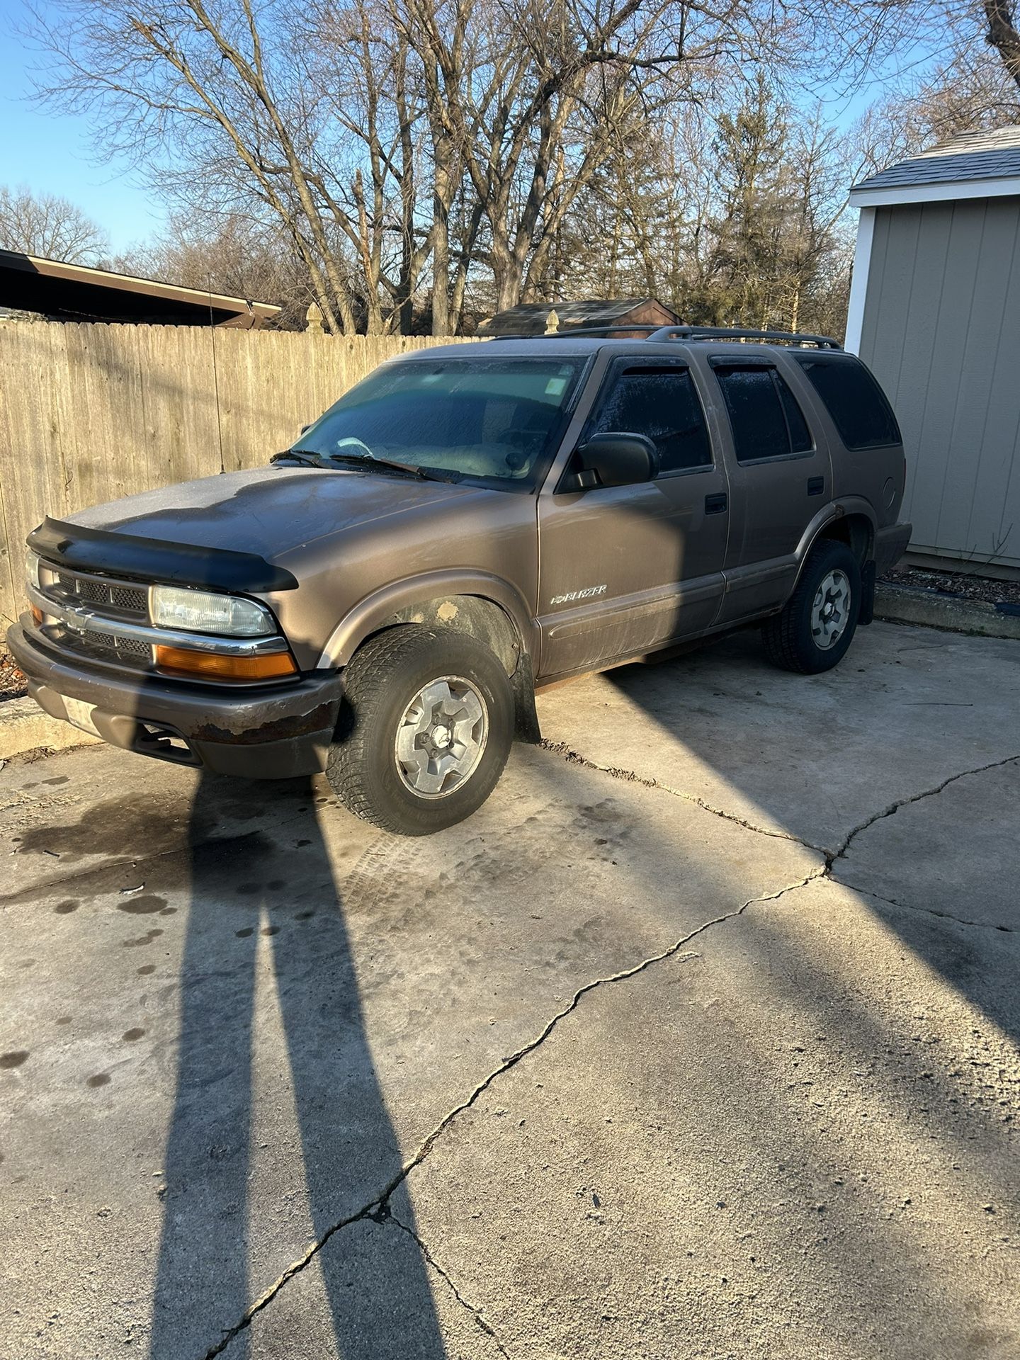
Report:
M 1020 194 L 1020 125 L 967 132 L 861 180 L 855 207 Z

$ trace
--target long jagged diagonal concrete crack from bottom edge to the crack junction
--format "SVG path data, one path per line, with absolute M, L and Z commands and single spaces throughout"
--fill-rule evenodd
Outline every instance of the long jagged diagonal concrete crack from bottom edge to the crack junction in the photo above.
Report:
M 461 1100 L 460 1104 L 454 1106 L 453 1110 L 450 1110 L 439 1121 L 439 1123 L 437 1123 L 437 1126 L 431 1130 L 431 1133 L 428 1133 L 422 1140 L 422 1142 L 418 1146 L 418 1152 L 415 1152 L 415 1155 L 408 1161 L 404 1163 L 404 1166 L 385 1186 L 381 1194 L 378 1194 L 374 1200 L 369 1201 L 367 1204 L 362 1205 L 360 1209 L 355 1210 L 351 1214 L 347 1214 L 344 1219 L 340 1219 L 337 1223 L 326 1228 L 326 1231 L 316 1242 L 311 1243 L 307 1251 L 305 1251 L 305 1254 L 299 1257 L 296 1261 L 292 1261 L 291 1265 L 288 1265 L 287 1269 L 280 1276 L 277 1276 L 277 1278 L 258 1296 L 258 1299 L 256 1299 L 256 1302 L 246 1308 L 245 1315 L 233 1327 L 230 1327 L 227 1331 L 223 1333 L 223 1337 L 205 1352 L 203 1360 L 215 1360 L 216 1356 L 222 1355 L 223 1350 L 226 1350 L 226 1348 L 234 1340 L 234 1337 L 239 1336 L 239 1333 L 242 1333 L 246 1327 L 250 1326 L 252 1319 L 272 1303 L 272 1300 L 276 1297 L 280 1289 L 283 1289 L 283 1287 L 287 1284 L 288 1280 L 292 1280 L 295 1274 L 299 1274 L 305 1269 L 305 1266 L 311 1259 L 314 1259 L 314 1257 L 318 1255 L 318 1253 L 322 1250 L 322 1247 L 325 1247 L 329 1239 L 335 1236 L 335 1234 L 364 1219 L 374 1219 L 377 1221 L 384 1221 L 388 1217 L 394 1217 L 389 1205 L 389 1201 L 393 1197 L 394 1191 L 404 1183 L 404 1180 L 407 1180 L 411 1172 L 424 1161 L 424 1159 L 428 1156 L 432 1146 L 435 1145 L 437 1140 L 445 1133 L 445 1130 L 453 1123 L 453 1121 L 458 1115 L 469 1110 L 479 1099 L 479 1096 L 481 1096 L 498 1077 L 500 1077 L 505 1072 L 509 1072 L 511 1068 L 517 1066 L 517 1064 L 521 1062 L 524 1058 L 526 1058 L 529 1054 L 534 1053 L 534 1050 L 539 1049 L 548 1039 L 548 1036 L 559 1025 L 559 1023 L 562 1020 L 566 1020 L 566 1017 L 578 1008 L 582 997 L 588 996 L 589 991 L 594 991 L 597 987 L 602 987 L 613 982 L 624 982 L 628 978 L 634 978 L 638 974 L 645 972 L 645 970 L 650 968 L 653 964 L 662 963 L 666 959 L 673 959 L 673 957 L 696 959 L 698 955 L 695 952 L 691 952 L 690 955 L 680 953 L 683 947 L 688 944 L 691 940 L 703 934 L 706 930 L 711 930 L 713 926 L 724 925 L 728 921 L 733 921 L 737 917 L 741 917 L 747 911 L 747 908 L 753 906 L 755 903 L 775 902 L 779 898 L 785 896 L 787 892 L 794 892 L 797 888 L 806 887 L 806 884 L 811 883 L 812 879 L 821 877 L 824 876 L 824 873 L 826 873 L 826 866 L 823 864 L 819 865 L 817 869 L 812 869 L 809 874 L 805 874 L 805 877 L 800 879 L 797 883 L 787 883 L 775 892 L 766 892 L 758 898 L 748 898 L 747 902 L 741 903 L 741 906 L 736 907 L 733 911 L 725 911 L 722 913 L 722 915 L 713 917 L 710 921 L 703 921 L 699 926 L 695 926 L 694 930 L 690 930 L 685 936 L 681 936 L 680 940 L 675 941 L 675 944 L 668 945 L 658 953 L 649 955 L 639 963 L 631 964 L 630 968 L 620 968 L 617 972 L 608 974 L 604 978 L 593 978 L 590 982 L 586 982 L 583 986 L 578 987 L 578 990 L 571 997 L 570 1002 L 566 1006 L 563 1006 L 562 1010 L 558 1010 L 556 1015 L 554 1015 L 552 1019 L 547 1021 L 547 1024 L 533 1039 L 522 1044 L 522 1047 L 517 1049 L 514 1053 L 509 1054 L 509 1057 L 503 1058 L 503 1061 L 496 1068 L 494 1068 L 487 1077 L 479 1081 L 479 1084 L 475 1087 L 475 1089 L 465 1100 Z M 394 1219 L 394 1221 L 397 1220 Z M 420 1243 L 420 1239 L 418 1239 L 416 1235 L 413 1234 L 412 1236 L 415 1236 L 415 1240 L 419 1242 L 424 1253 L 426 1248 Z M 427 1253 L 426 1258 L 431 1261 Z M 439 1266 L 435 1266 L 435 1269 L 445 1276 L 445 1273 L 441 1270 Z M 450 1281 L 449 1277 L 446 1276 L 445 1278 L 450 1284 L 450 1288 L 454 1289 L 454 1292 L 457 1292 L 453 1285 L 453 1281 Z M 471 1307 L 471 1304 L 465 1306 Z M 496 1340 L 498 1342 L 498 1338 L 494 1337 L 494 1340 Z

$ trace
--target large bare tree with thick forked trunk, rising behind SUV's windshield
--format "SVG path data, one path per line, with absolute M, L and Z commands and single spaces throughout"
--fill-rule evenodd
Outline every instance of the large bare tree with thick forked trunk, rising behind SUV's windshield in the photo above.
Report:
M 566 214 L 632 112 L 651 122 L 668 98 L 687 97 L 692 72 L 736 58 L 764 33 L 758 5 L 736 0 L 711 19 L 677 0 L 403 4 L 437 163 L 462 163 L 496 309 L 534 291 Z

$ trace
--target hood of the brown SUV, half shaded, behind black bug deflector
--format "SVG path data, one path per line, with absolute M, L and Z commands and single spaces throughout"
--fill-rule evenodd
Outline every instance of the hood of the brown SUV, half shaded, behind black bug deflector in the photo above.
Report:
M 144 491 L 65 522 L 139 539 L 252 552 L 272 562 L 316 539 L 484 488 L 389 473 L 260 468 Z

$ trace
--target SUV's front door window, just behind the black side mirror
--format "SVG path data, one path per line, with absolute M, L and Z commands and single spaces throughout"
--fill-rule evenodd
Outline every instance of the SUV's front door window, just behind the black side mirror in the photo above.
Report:
M 691 374 L 680 367 L 630 367 L 617 373 L 589 434 L 643 434 L 658 449 L 658 471 L 711 462 L 709 432 Z

